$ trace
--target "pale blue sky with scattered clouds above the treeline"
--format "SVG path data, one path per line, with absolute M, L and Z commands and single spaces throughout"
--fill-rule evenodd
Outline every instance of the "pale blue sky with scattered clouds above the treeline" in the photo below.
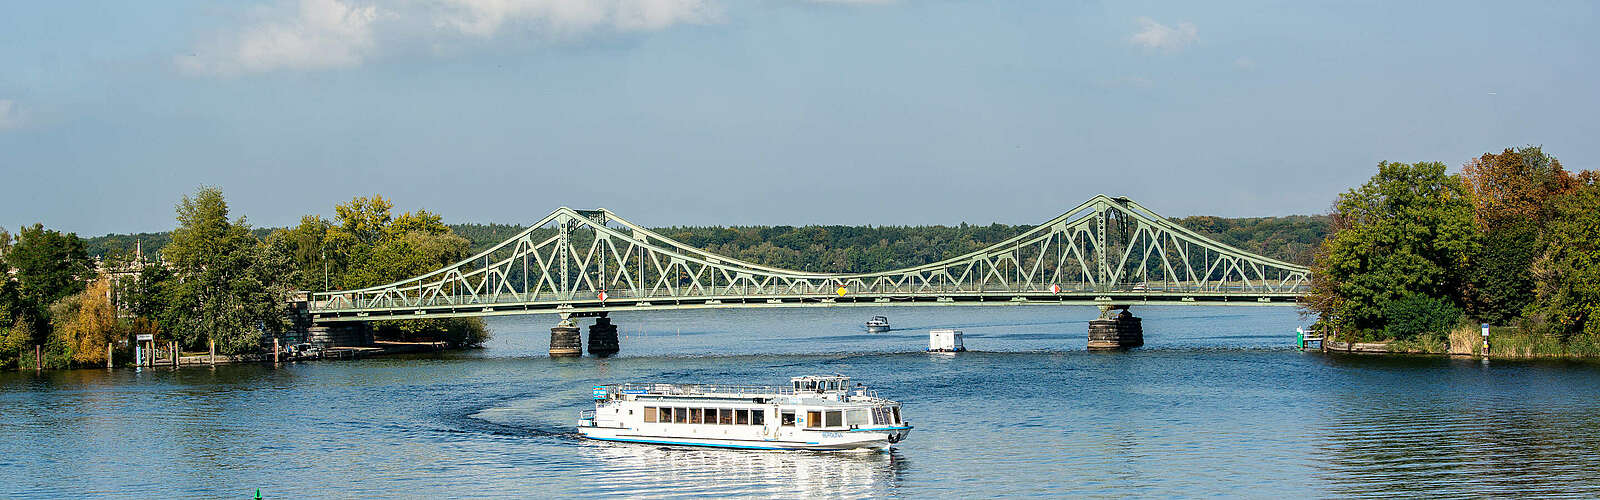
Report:
M 1325 213 L 1381 160 L 1600 168 L 1592 2 L 267 0 L 0 6 L 0 226 L 1029 224 Z

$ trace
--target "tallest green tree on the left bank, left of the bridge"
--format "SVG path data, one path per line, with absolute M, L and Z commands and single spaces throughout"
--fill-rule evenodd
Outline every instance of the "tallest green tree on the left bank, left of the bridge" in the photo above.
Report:
M 262 338 L 283 332 L 286 269 L 262 264 L 269 252 L 250 234 L 245 218 L 229 220 L 216 188 L 186 196 L 178 223 L 171 244 L 162 248 L 176 274 L 165 293 L 165 330 L 187 348 L 210 338 L 227 354 L 259 351 Z

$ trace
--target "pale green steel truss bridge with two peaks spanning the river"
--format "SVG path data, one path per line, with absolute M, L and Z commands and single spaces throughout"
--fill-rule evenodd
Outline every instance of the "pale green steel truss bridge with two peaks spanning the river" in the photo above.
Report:
M 611 311 L 957 304 L 1294 304 L 1310 271 L 1096 196 L 1016 237 L 880 272 L 806 272 L 672 240 L 610 210 L 557 208 L 418 277 L 312 293 L 314 322 Z

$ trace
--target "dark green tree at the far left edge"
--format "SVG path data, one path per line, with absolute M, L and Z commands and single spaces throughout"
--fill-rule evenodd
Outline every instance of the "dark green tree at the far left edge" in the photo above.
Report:
M 94 269 L 77 234 L 61 234 L 42 224 L 24 226 L 16 244 L 5 252 L 5 260 L 16 269 L 19 312 L 34 324 L 34 332 L 48 332 L 46 308 L 83 292 L 85 279 Z

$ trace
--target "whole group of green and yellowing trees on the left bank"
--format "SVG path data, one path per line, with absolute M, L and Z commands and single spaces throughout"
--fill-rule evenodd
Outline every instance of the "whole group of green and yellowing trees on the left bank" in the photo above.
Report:
M 178 204 L 178 228 L 149 242 L 0 229 L 0 369 L 128 362 L 131 340 L 146 333 L 184 351 L 259 354 L 288 332 L 294 290 L 386 284 L 469 255 L 438 215 L 390 208 L 357 197 L 333 218 L 253 229 L 230 216 L 219 189 L 202 188 Z M 94 245 L 104 245 L 98 256 Z M 478 319 L 384 321 L 374 333 L 453 346 L 488 338 Z

